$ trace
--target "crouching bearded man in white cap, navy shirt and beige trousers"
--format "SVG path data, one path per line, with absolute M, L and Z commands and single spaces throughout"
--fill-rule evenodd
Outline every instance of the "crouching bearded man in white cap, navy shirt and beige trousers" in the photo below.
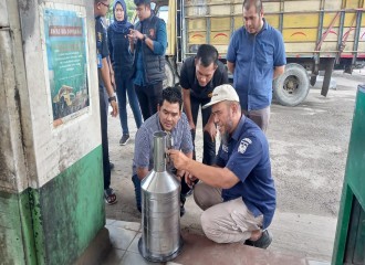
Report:
M 204 107 L 209 106 L 221 136 L 216 167 L 197 162 L 178 150 L 168 153 L 175 168 L 194 176 L 186 178 L 188 184 L 195 178 L 200 180 L 194 199 L 204 210 L 201 226 L 208 239 L 267 248 L 272 241 L 267 229 L 277 206 L 268 140 L 242 114 L 231 85 L 217 86 Z

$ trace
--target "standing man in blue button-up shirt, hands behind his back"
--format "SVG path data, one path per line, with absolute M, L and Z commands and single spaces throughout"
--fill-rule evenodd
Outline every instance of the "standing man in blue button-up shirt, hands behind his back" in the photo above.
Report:
M 272 81 L 284 73 L 286 59 L 281 33 L 263 18 L 261 0 L 244 0 L 244 26 L 228 46 L 227 66 L 243 114 L 265 131 L 270 119 Z

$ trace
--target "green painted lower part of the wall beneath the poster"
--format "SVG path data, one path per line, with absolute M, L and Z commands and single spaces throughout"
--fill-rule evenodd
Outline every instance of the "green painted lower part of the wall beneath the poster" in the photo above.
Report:
M 0 192 L 1 264 L 76 259 L 105 224 L 102 176 L 100 146 L 38 190 Z

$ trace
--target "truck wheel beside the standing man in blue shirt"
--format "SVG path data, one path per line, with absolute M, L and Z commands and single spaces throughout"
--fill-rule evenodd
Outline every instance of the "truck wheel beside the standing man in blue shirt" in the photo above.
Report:
M 273 92 L 283 106 L 301 104 L 310 92 L 310 80 L 305 68 L 295 63 L 288 64 L 285 72 L 273 82 Z

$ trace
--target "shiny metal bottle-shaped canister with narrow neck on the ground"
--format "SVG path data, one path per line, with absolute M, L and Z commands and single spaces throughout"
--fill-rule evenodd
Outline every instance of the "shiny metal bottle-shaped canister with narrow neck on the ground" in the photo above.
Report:
M 140 255 L 150 262 L 167 262 L 181 251 L 180 183 L 166 171 L 167 132 L 154 134 L 154 169 L 140 183 Z

